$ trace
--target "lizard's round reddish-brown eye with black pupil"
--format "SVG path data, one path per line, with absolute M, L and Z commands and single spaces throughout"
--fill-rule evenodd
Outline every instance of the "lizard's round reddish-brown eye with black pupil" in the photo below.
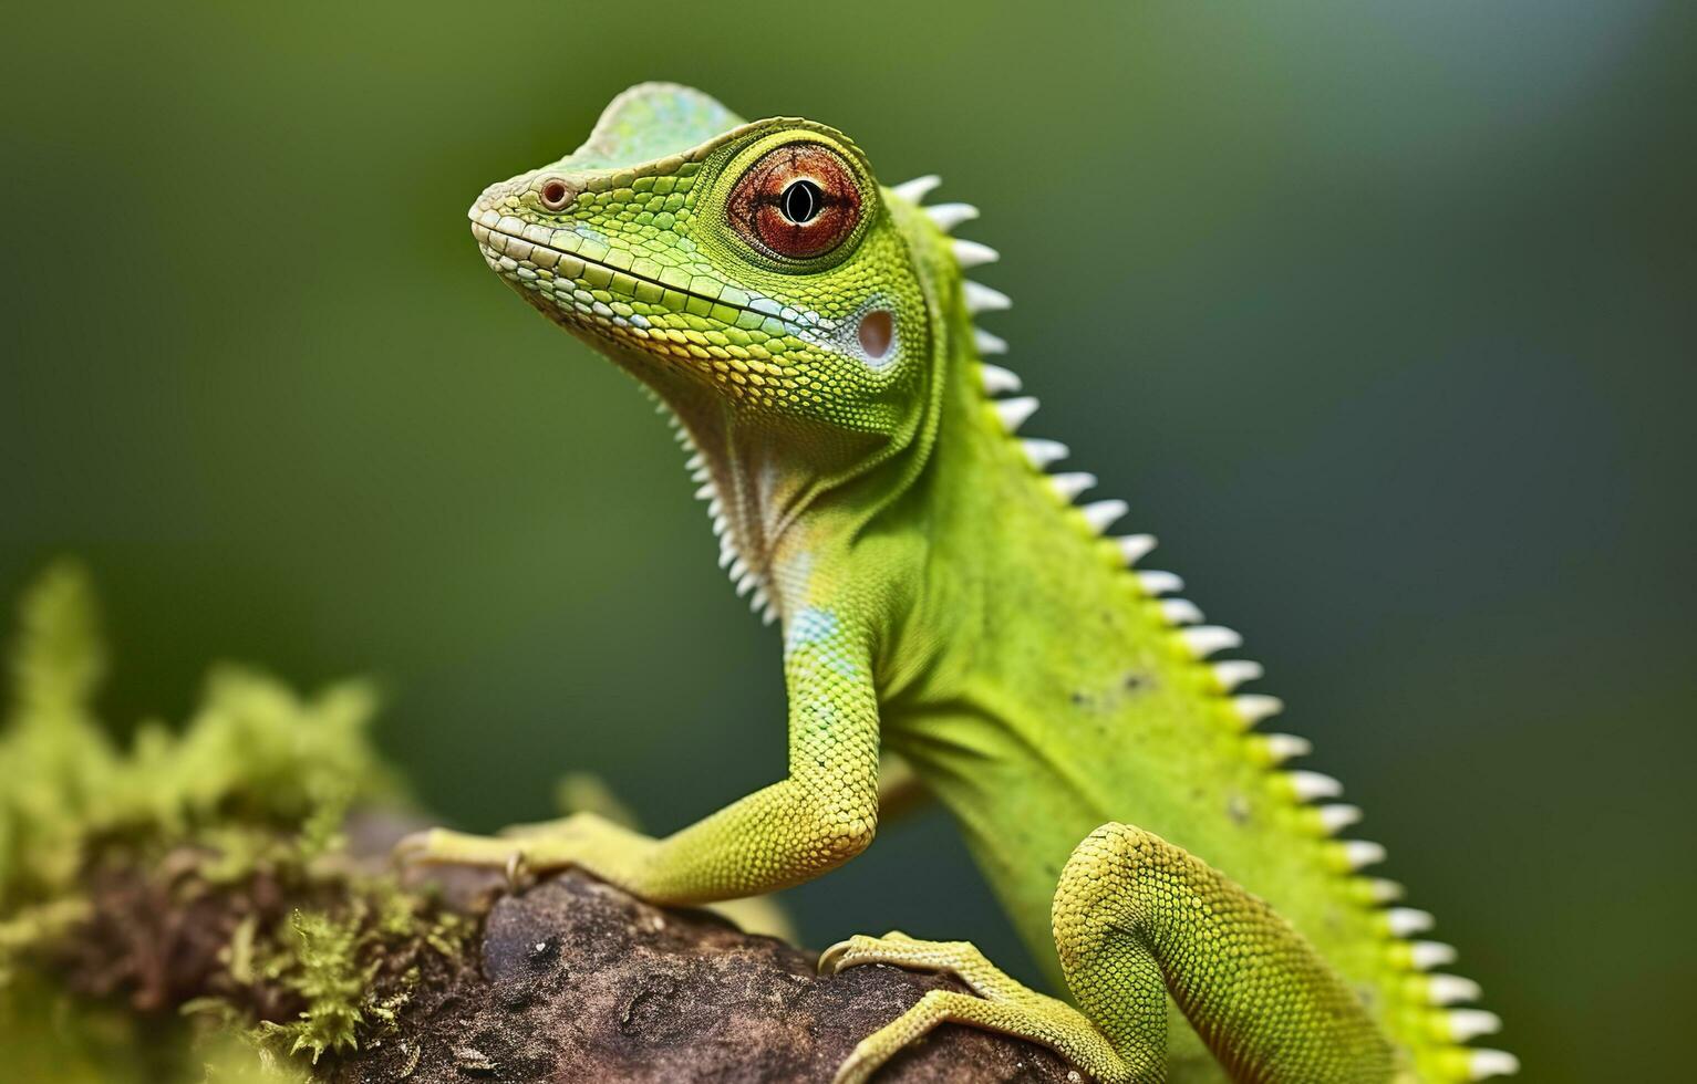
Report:
M 736 180 L 726 215 L 752 248 L 787 260 L 823 256 L 860 224 L 860 182 L 830 148 L 791 142 Z

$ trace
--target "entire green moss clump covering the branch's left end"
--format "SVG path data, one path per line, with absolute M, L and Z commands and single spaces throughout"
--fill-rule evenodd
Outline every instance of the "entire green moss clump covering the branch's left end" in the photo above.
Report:
M 221 665 L 182 728 L 120 748 L 93 711 L 104 673 L 88 577 L 58 565 L 24 599 L 0 729 L 0 1047 L 54 1074 L 20 1079 L 300 1081 L 390 1030 L 470 923 L 346 853 L 348 811 L 399 797 L 372 690 L 302 697 Z M 200 947 L 204 989 L 137 989 L 122 958 L 75 952 L 165 909 L 229 930 Z M 143 1026 L 88 996 L 105 989 L 170 1016 Z

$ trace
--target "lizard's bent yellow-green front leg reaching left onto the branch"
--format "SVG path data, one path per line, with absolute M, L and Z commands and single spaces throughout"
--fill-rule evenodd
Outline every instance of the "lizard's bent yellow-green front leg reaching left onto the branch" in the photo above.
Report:
M 660 904 L 701 904 L 799 884 L 860 853 L 877 828 L 877 699 L 864 634 L 808 607 L 786 629 L 789 775 L 660 840 L 594 814 L 541 831 L 433 830 L 409 862 L 584 869 Z

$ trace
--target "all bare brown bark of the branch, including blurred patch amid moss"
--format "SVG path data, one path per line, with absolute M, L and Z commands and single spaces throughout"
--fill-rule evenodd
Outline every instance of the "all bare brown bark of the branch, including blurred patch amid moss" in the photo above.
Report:
M 363 814 L 351 853 L 389 870 L 411 818 Z M 216 852 L 178 848 L 163 862 L 124 852 L 87 870 L 90 911 L 48 957 L 70 991 L 124 1004 L 149 1033 L 171 1033 L 182 1006 L 214 999 L 231 1023 L 300 1018 L 305 1001 L 275 981 L 238 981 L 229 945 L 243 925 L 288 933 L 297 909 L 344 913 L 344 882 L 255 872 L 209 882 Z M 582 874 L 518 892 L 497 874 L 414 870 L 450 911 L 473 916 L 463 948 L 412 940 L 372 967 L 368 1001 L 395 991 L 397 1013 L 367 1014 L 358 1048 L 326 1052 L 331 1084 L 828 1082 L 855 1043 L 952 979 L 855 967 L 818 975 L 815 952 L 748 935 L 706 911 L 645 904 Z M 188 891 L 192 886 L 193 891 Z M 249 969 L 251 972 L 253 969 Z M 399 982 L 399 975 L 412 975 Z M 400 1004 L 404 1001 L 404 1004 Z M 0 1072 L 0 1077 L 5 1074 Z M 1035 1045 L 945 1025 L 901 1053 L 879 1084 L 1078 1084 Z

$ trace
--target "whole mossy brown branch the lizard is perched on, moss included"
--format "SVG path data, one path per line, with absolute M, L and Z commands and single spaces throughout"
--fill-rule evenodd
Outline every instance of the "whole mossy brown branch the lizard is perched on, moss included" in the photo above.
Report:
M 358 682 L 214 668 L 182 729 L 119 748 L 87 575 L 24 602 L 0 731 L 0 1048 L 20 1084 L 828 1081 L 933 975 L 813 955 L 582 875 L 404 879 L 419 826 Z M 574 804 L 613 809 L 591 780 Z M 772 923 L 755 901 L 738 918 Z M 762 901 L 764 902 L 764 901 Z M 957 987 L 959 989 L 959 987 Z M 1069 1081 L 945 1028 L 886 1081 Z

